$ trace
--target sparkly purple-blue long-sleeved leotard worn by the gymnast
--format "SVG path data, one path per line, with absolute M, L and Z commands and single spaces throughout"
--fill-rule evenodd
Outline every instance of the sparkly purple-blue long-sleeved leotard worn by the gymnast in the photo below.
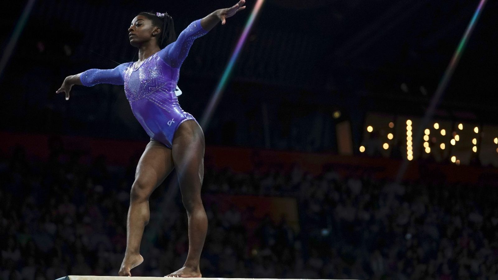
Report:
M 128 62 L 114 69 L 90 69 L 80 75 L 84 86 L 124 85 L 131 111 L 151 139 L 171 148 L 181 123 L 195 118 L 180 108 L 175 94 L 180 66 L 196 38 L 206 34 L 198 19 L 178 39 L 147 58 L 137 69 Z

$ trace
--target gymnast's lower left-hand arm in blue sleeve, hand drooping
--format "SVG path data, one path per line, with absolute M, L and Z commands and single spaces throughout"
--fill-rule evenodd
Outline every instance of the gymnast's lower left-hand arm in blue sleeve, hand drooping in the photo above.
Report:
M 97 84 L 123 85 L 123 73 L 124 70 L 126 70 L 125 64 L 120 64 L 114 69 L 89 69 L 76 75 L 67 76 L 56 93 L 65 92 L 66 100 L 68 100 L 69 92 L 73 85 L 83 85 L 87 87 Z

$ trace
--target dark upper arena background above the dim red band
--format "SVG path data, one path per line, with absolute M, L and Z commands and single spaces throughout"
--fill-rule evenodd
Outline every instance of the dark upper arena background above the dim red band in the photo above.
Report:
M 2 12 L 2 45 L 23 7 L 22 1 L 12 4 Z M 231 4 L 217 2 L 220 7 Z M 249 1 L 229 24 L 196 40 L 181 68 L 178 84 L 184 94 L 179 101 L 198 119 L 253 4 Z M 423 116 L 477 5 L 264 2 L 206 132 L 207 144 L 337 151 L 335 122 L 346 119 L 358 150 L 366 112 Z M 480 122 L 496 123 L 496 5 L 486 5 L 443 97 L 439 108 L 448 118 L 466 112 Z M 76 86 L 69 102 L 55 90 L 67 75 L 136 60 L 126 29 L 137 12 L 168 11 L 179 33 L 214 9 L 189 1 L 36 2 L 1 77 L 1 129 L 146 139 L 122 87 Z M 263 107 L 269 146 L 261 125 Z M 342 119 L 331 118 L 335 110 L 341 110 Z M 321 140 L 310 144 L 313 136 Z

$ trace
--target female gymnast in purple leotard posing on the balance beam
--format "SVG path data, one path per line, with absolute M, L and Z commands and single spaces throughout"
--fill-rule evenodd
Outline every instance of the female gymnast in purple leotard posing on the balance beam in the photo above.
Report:
M 129 42 L 138 48 L 138 61 L 68 76 L 56 91 L 64 92 L 68 100 L 73 85 L 124 85 L 133 114 L 150 136 L 131 186 L 126 252 L 120 276 L 131 276 L 130 270 L 143 262 L 139 249 L 143 229 L 149 221 L 149 196 L 176 168 L 188 216 L 189 247 L 183 267 L 168 277 L 201 277 L 199 260 L 208 228 L 201 200 L 204 134 L 194 117 L 180 108 L 175 90 L 180 66 L 194 40 L 206 34 L 219 20 L 225 24 L 226 18 L 246 8 L 244 4 L 245 0 L 240 0 L 230 8 L 215 10 L 190 23 L 178 39 L 170 15 L 141 12 L 128 28 Z

